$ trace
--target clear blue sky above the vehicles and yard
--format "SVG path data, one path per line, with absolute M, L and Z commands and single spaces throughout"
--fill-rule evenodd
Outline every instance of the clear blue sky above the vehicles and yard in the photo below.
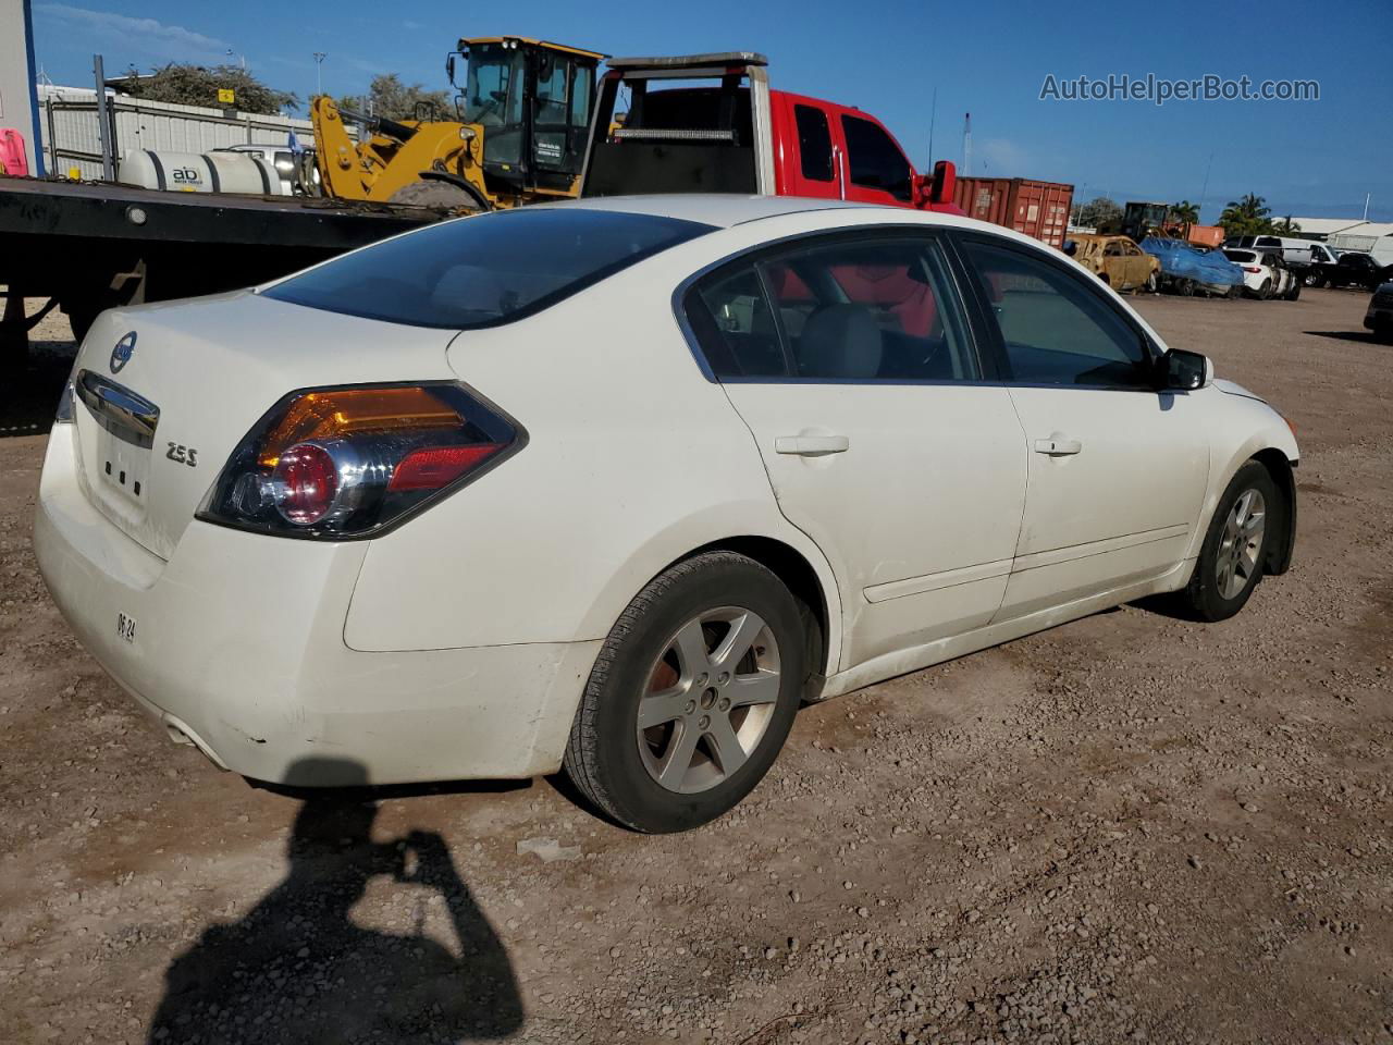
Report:
M 1279 215 L 1393 220 L 1393 8 L 1387 0 L 1220 4 L 701 3 L 464 4 L 460 0 L 33 0 L 35 57 L 57 84 L 89 85 L 91 59 L 233 61 L 273 86 L 330 93 L 375 72 L 444 86 L 461 35 L 517 33 L 612 54 L 749 49 L 770 82 L 879 116 L 915 166 L 961 160 L 972 174 L 1070 181 L 1084 198 L 1188 198 L 1204 219 L 1244 192 Z M 1316 79 L 1318 102 L 1048 102 L 1059 81 L 1109 74 L 1170 79 Z M 1211 162 L 1212 156 L 1212 162 Z M 1208 171 L 1208 188 L 1206 188 Z

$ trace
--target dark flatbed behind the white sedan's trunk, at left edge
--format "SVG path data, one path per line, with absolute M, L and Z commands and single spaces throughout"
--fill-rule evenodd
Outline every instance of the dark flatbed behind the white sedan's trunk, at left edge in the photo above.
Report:
M 0 177 L 0 358 L 25 351 L 24 298 L 61 308 L 77 339 L 102 309 L 249 287 L 446 217 L 306 196 L 169 192 Z

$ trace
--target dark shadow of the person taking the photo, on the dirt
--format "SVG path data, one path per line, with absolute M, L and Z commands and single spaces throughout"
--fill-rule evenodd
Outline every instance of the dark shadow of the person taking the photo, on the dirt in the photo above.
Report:
M 306 759 L 301 779 L 366 783 L 361 766 Z M 504 1038 L 522 1024 L 501 940 L 460 879 L 444 840 L 411 832 L 372 840 L 376 805 L 354 791 L 313 793 L 290 837 L 290 869 L 241 920 L 213 925 L 166 973 L 150 1042 L 330 1045 L 382 1041 L 454 1045 Z M 414 929 L 357 925 L 372 879 L 428 890 Z M 422 901 L 423 900 L 423 901 Z M 423 932 L 425 908 L 450 925 L 453 947 Z

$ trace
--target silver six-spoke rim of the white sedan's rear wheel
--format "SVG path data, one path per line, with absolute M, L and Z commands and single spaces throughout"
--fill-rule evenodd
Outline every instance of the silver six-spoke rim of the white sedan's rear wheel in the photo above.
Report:
M 779 644 L 754 610 L 720 606 L 683 624 L 638 701 L 638 754 L 669 791 L 709 790 L 749 759 L 779 701 Z

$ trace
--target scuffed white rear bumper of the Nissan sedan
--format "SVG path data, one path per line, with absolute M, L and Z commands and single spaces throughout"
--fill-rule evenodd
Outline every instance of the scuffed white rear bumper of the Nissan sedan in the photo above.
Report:
M 560 765 L 598 641 L 352 651 L 344 620 L 366 543 L 192 522 L 166 563 L 88 503 L 74 470 L 59 425 L 35 514 L 45 582 L 107 673 L 217 765 L 305 786 Z

